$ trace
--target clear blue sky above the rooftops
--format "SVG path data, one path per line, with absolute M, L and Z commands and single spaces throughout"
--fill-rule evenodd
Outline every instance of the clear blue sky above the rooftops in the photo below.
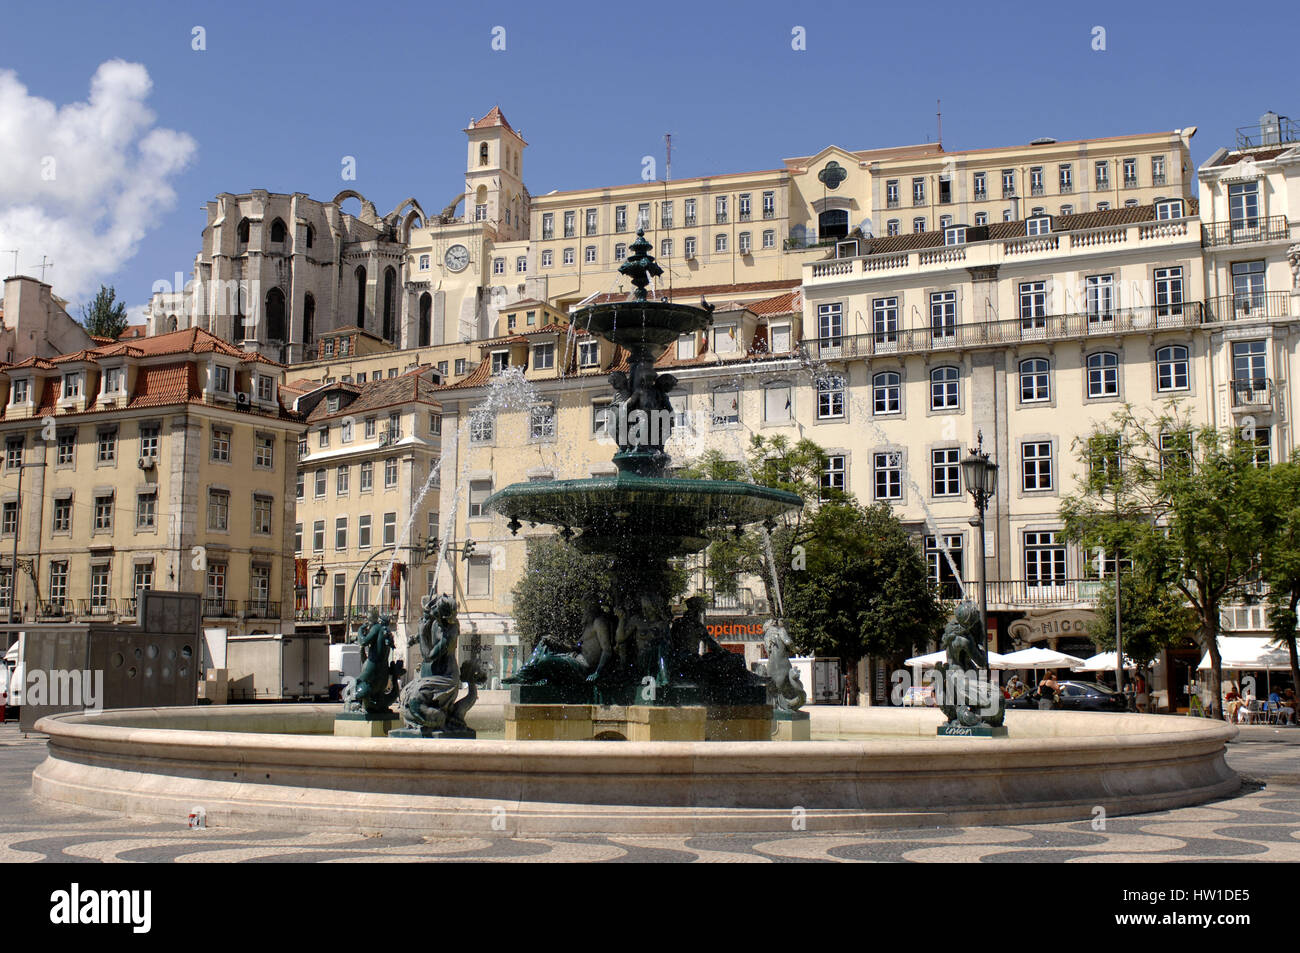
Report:
M 65 282 L 104 281 L 139 306 L 155 281 L 188 273 L 200 207 L 220 191 L 328 199 L 351 186 L 381 213 L 407 195 L 441 208 L 460 190 L 460 130 L 498 103 L 529 142 L 533 194 L 636 181 L 666 131 L 675 178 L 774 168 L 829 143 L 932 140 L 936 99 L 950 150 L 1196 125 L 1199 164 L 1265 109 L 1300 116 L 1296 10 L 1294 0 L 10 3 L 0 70 L 30 96 L 83 101 L 100 64 L 122 59 L 148 72 L 153 126 L 192 139 L 165 177 L 174 198 L 153 196 L 138 239 L 96 256 L 39 229 L 10 242 L 26 246 L 27 273 L 51 246 L 65 296 L 82 296 Z M 203 52 L 191 49 L 196 25 Z M 491 49 L 495 26 L 503 52 Z M 794 26 L 805 51 L 792 49 Z M 1092 49 L 1095 26 L 1105 51 Z M 0 129 L 0 150 L 36 131 L 3 117 Z M 356 157 L 356 182 L 339 178 L 344 155 Z M 122 181 L 131 174 L 152 173 L 127 169 Z M 21 202 L 0 186 L 0 274 L 13 264 L 5 204 Z M 70 215 L 47 204 L 55 224 Z

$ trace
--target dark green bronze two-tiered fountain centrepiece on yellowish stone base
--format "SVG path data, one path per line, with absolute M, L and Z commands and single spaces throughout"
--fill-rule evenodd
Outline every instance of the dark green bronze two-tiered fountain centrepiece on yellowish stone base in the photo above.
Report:
M 576 650 L 543 641 L 506 680 L 514 685 L 506 714 L 510 738 L 771 736 L 767 681 L 707 633 L 701 637 L 698 603 L 673 620 L 670 560 L 707 546 L 708 529 L 732 527 L 740 533 L 753 523 L 771 525 L 802 499 L 754 484 L 667 475 L 664 443 L 673 419 L 668 394 L 676 380 L 656 372 L 655 361 L 682 334 L 707 332 L 712 307 L 650 300 L 646 287 L 660 268 L 649 252 L 644 231 L 637 231 L 619 269 L 636 289 L 630 300 L 575 315 L 578 326 L 628 354 L 628 371 L 610 374 L 619 395 L 610 420 L 618 472 L 514 484 L 485 503 L 510 519 L 514 533 L 524 523 L 559 527 L 580 550 L 606 556 L 616 580 L 604 605 L 589 608 L 584 632 L 575 633 L 581 636 Z

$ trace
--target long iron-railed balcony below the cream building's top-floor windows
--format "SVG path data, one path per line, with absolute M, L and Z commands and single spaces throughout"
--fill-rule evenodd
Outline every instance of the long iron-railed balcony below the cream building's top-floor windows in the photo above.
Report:
M 828 263 L 832 264 L 832 263 Z M 1196 328 L 1200 302 L 1145 308 L 1117 308 L 1106 315 L 1046 315 L 1044 317 L 980 324 L 907 328 L 892 332 L 810 338 L 801 347 L 809 360 L 853 360 L 878 354 L 930 354 L 970 347 L 1005 347 L 1026 341 L 1070 341 L 1143 333 L 1165 328 Z

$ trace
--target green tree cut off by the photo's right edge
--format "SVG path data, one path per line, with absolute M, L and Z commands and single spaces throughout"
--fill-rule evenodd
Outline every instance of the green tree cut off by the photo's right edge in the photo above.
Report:
M 1291 681 L 1300 685 L 1296 654 L 1296 606 L 1300 603 L 1300 460 L 1279 463 L 1261 473 L 1258 494 L 1264 521 L 1260 575 L 1269 588 L 1269 625 L 1274 642 L 1287 646 Z

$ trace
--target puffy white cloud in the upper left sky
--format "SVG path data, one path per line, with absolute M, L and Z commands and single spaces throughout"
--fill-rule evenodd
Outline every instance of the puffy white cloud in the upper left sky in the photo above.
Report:
M 176 204 L 170 182 L 196 151 L 185 133 L 155 126 L 150 74 L 108 60 L 82 103 L 56 107 L 0 70 L 0 251 L 18 270 L 48 256 L 55 293 L 84 300 L 135 254 Z M 13 255 L 0 254 L 0 274 Z

